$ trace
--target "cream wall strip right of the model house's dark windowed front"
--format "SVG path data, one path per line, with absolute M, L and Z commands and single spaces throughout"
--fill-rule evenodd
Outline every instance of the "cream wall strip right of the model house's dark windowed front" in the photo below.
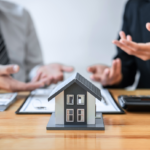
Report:
M 87 92 L 87 124 L 95 124 L 96 98 Z

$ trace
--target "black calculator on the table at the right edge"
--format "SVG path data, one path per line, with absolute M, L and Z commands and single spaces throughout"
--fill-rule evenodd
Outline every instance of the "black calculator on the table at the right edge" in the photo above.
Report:
M 120 106 L 126 110 L 150 111 L 150 95 L 121 95 L 118 101 Z

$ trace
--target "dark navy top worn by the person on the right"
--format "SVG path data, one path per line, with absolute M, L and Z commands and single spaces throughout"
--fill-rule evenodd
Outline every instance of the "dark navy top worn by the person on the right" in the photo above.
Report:
M 125 7 L 123 27 L 127 35 L 131 35 L 134 42 L 150 42 L 150 32 L 146 23 L 150 22 L 150 0 L 129 0 Z M 150 60 L 143 61 L 128 55 L 117 48 L 117 56 L 122 60 L 123 81 L 118 88 L 124 88 L 134 83 L 136 72 L 140 72 L 137 88 L 150 88 Z

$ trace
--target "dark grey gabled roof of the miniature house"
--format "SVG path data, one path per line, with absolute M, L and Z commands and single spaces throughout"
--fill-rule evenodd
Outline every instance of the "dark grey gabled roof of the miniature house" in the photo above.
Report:
M 52 100 L 55 96 L 57 96 L 59 93 L 67 89 L 69 86 L 71 86 L 73 83 L 78 84 L 80 87 L 82 87 L 84 90 L 91 93 L 94 97 L 101 100 L 101 93 L 100 89 L 98 89 L 95 85 L 93 85 L 91 82 L 89 82 L 87 79 L 85 79 L 83 76 L 81 76 L 79 73 L 75 73 L 67 80 L 63 81 L 61 84 L 59 84 L 49 95 L 48 101 Z

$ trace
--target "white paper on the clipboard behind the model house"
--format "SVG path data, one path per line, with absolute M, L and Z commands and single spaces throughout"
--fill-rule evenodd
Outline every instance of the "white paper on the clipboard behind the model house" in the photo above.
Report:
M 21 113 L 51 113 L 55 111 L 55 98 L 48 102 L 53 89 L 38 89 L 31 92 L 19 112 Z M 102 100 L 96 99 L 96 112 L 119 113 L 120 108 L 106 89 L 101 89 Z

